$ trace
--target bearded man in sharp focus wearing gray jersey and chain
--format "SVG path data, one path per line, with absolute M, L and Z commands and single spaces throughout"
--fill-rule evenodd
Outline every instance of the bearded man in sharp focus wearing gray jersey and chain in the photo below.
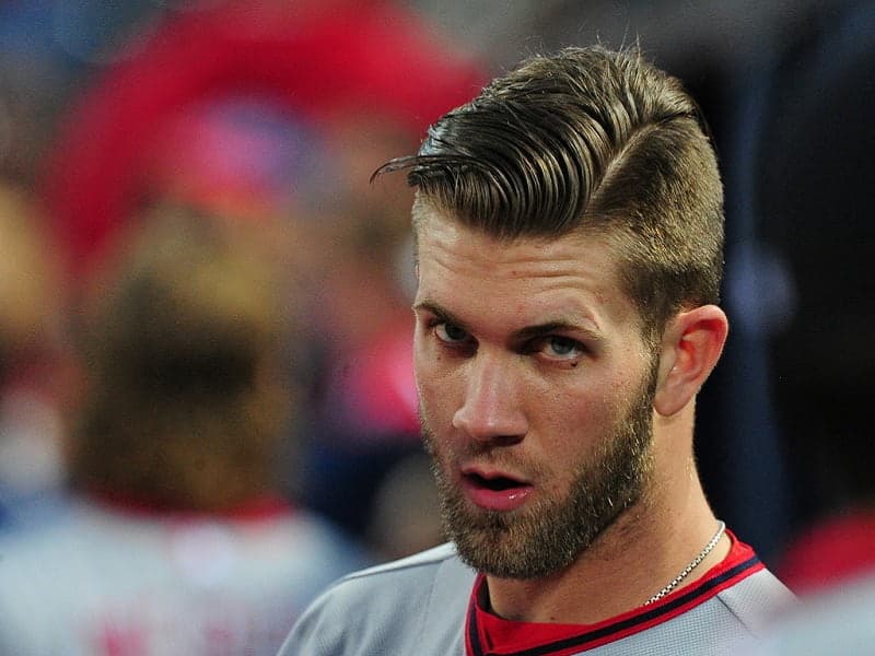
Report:
M 692 453 L 727 332 L 722 186 L 637 52 L 535 57 L 432 126 L 415 362 L 444 546 L 352 575 L 283 654 L 722 653 L 792 596 Z

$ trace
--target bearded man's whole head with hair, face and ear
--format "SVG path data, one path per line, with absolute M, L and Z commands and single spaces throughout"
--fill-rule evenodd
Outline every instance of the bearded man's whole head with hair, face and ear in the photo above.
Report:
M 703 119 L 639 52 L 569 48 L 494 80 L 380 172 L 399 168 L 417 191 L 417 378 L 448 532 L 488 573 L 561 570 L 648 494 L 654 412 L 690 406 L 725 338 Z

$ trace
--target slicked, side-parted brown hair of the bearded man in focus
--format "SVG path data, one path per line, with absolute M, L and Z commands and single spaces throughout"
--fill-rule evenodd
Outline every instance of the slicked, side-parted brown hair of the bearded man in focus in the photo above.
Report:
M 512 241 L 605 234 L 653 339 L 684 306 L 715 303 L 723 187 L 681 83 L 638 49 L 565 48 L 497 78 L 429 128 L 407 169 L 424 206 Z

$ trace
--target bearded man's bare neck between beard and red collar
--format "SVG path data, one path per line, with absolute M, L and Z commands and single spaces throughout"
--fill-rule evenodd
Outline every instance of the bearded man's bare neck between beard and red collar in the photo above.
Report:
M 689 449 L 691 452 L 691 447 Z M 692 562 L 718 529 L 691 453 L 654 453 L 655 475 L 627 509 L 568 569 L 534 581 L 487 576 L 492 612 L 510 620 L 592 624 L 644 605 Z M 669 467 L 672 476 L 660 476 Z M 722 561 L 725 536 L 684 577 L 681 589 Z

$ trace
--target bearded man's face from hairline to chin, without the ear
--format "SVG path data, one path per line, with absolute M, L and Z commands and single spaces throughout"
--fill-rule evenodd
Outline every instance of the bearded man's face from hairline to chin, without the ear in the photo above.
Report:
M 422 218 L 415 362 L 445 528 L 478 571 L 546 576 L 644 492 L 655 359 L 604 242 Z

